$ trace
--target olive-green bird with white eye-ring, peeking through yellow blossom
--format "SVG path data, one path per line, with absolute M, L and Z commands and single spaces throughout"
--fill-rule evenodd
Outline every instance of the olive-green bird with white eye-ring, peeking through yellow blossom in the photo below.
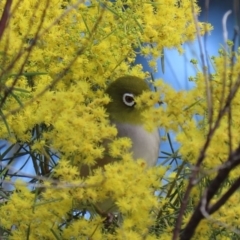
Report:
M 160 136 L 158 128 L 149 132 L 144 128 L 142 111 L 146 108 L 137 107 L 136 98 L 145 91 L 151 91 L 145 80 L 136 76 L 123 76 L 111 82 L 106 89 L 110 102 L 106 105 L 106 112 L 109 120 L 117 129 L 117 137 L 128 137 L 132 141 L 130 151 L 134 160 L 139 158 L 145 160 L 148 167 L 156 164 L 159 154 Z M 154 106 L 153 106 L 154 107 Z M 107 145 L 105 143 L 105 145 Z M 107 149 L 107 146 L 106 146 Z M 109 155 L 99 159 L 91 170 L 97 167 L 104 167 L 105 164 L 114 162 Z M 87 177 L 90 174 L 88 166 L 82 166 L 81 176 Z M 111 204 L 107 199 L 102 207 Z M 106 210 L 107 211 L 107 210 Z

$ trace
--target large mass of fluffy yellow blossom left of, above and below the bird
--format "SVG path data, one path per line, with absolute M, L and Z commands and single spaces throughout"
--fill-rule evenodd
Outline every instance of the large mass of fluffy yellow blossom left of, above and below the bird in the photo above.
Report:
M 0 1 L 1 14 L 10 2 Z M 147 170 L 143 161 L 133 162 L 126 139 L 110 148 L 122 162 L 98 169 L 84 181 L 79 166 L 94 165 L 104 154 L 102 142 L 116 136 L 104 108 L 109 102 L 104 93 L 107 82 L 122 75 L 147 76 L 140 65 L 132 66 L 137 48 L 157 57 L 164 47 L 181 50 L 183 42 L 193 40 L 191 4 L 199 12 L 191 0 L 12 1 L 0 38 L 0 136 L 26 144 L 32 157 L 50 159 L 46 150 L 52 150 L 60 160 L 53 171 L 57 183 L 45 179 L 40 196 L 18 183 L 1 206 L 0 225 L 11 232 L 9 239 L 112 239 L 102 231 L 99 216 L 74 221 L 70 214 L 83 210 L 79 202 L 94 205 L 108 196 L 116 200 L 125 219 L 114 239 L 140 239 L 150 231 L 155 210 L 162 206 L 153 194 L 165 174 L 161 167 Z M 201 33 L 210 29 L 207 24 L 199 27 Z M 170 88 L 162 94 L 174 101 Z M 154 114 L 146 128 L 160 125 L 161 119 L 161 125 L 177 129 L 174 121 L 192 99 L 178 95 L 175 102 L 181 106 L 174 108 L 175 102 L 169 102 L 170 115 L 162 108 L 144 113 L 146 118 Z M 150 105 L 157 98 L 139 101 Z M 184 118 L 179 119 L 185 126 Z

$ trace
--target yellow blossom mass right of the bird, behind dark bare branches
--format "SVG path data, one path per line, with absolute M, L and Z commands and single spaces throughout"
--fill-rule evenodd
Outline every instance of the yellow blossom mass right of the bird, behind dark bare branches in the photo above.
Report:
M 236 57 L 234 64 L 231 64 L 232 54 Z M 228 96 L 232 92 L 231 88 L 239 81 L 239 52 L 232 53 L 231 50 L 220 50 L 220 55 L 212 58 L 212 61 L 215 72 L 208 78 L 211 86 L 211 126 L 213 127 L 217 122 L 220 110 L 228 101 Z M 176 132 L 176 139 L 181 144 L 179 152 L 185 161 L 194 165 L 206 142 L 210 124 L 204 74 L 199 71 L 192 80 L 195 82 L 195 87 L 188 92 L 176 92 L 162 81 L 157 82 L 156 86 L 161 92 L 162 100 L 167 107 L 153 109 L 152 111 L 161 116 L 159 121 L 161 121 L 162 126 L 164 125 L 167 130 Z M 225 93 L 223 94 L 224 86 Z M 211 179 L 216 176 L 217 171 L 228 159 L 230 145 L 233 150 L 239 146 L 240 92 L 239 87 L 235 87 L 235 89 L 237 91 L 231 102 L 231 121 L 228 118 L 228 111 L 226 111 L 219 126 L 211 136 L 209 147 L 201 165 L 200 174 L 203 179 L 191 192 L 192 203 L 190 205 L 192 204 L 192 206 L 190 207 L 192 209 L 197 206 L 205 187 L 209 185 Z M 229 189 L 230 183 L 238 177 L 239 167 L 231 171 L 227 181 L 224 182 L 218 194 L 214 196 L 213 202 L 218 200 Z M 216 239 L 224 239 L 224 237 L 233 239 L 234 230 L 237 231 L 239 226 L 239 219 L 234 217 L 238 215 L 239 204 L 239 192 L 236 192 L 219 211 L 214 213 L 213 216 L 209 216 L 208 220 L 201 222 L 194 239 L 206 239 L 211 234 L 213 235 L 210 238 L 214 238 L 213 236 L 216 234 L 219 235 L 219 238 Z M 189 221 L 191 214 L 192 212 L 185 216 L 184 224 Z M 221 229 L 224 229 L 222 233 Z

